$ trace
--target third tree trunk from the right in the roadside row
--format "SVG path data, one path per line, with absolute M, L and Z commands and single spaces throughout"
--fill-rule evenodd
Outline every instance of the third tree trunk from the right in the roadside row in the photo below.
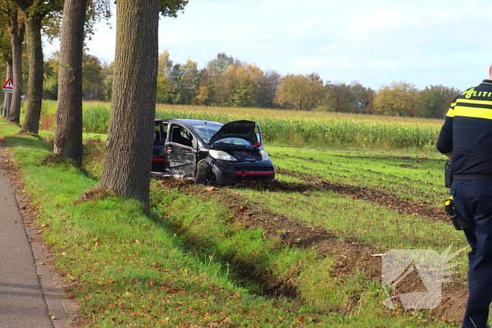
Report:
M 26 15 L 28 17 L 28 15 Z M 34 16 L 27 19 L 27 60 L 29 60 L 29 91 L 27 92 L 27 108 L 22 123 L 22 132 L 37 134 L 39 117 L 41 116 L 41 101 L 43 98 L 44 60 L 41 45 L 42 18 Z

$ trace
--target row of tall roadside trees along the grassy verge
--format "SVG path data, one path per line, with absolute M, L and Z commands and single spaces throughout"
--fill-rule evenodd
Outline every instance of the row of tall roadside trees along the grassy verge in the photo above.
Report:
M 147 208 L 157 91 L 159 15 L 176 17 L 186 4 L 188 0 L 117 1 L 114 91 L 100 188 L 138 199 Z M 12 78 L 14 84 L 12 102 L 4 102 L 10 107 L 8 121 L 20 123 L 20 96 L 24 93 L 24 32 L 29 70 L 28 102 L 21 133 L 37 134 L 39 129 L 44 86 L 41 29 L 51 37 L 60 35 L 58 65 L 51 67 L 52 74 L 58 72 L 53 154 L 81 166 L 84 38 L 91 34 L 93 22 L 110 15 L 109 0 L 0 0 L 0 13 L 3 13 L 0 24 L 8 31 L 0 34 L 0 54 L 6 62 L 7 77 Z

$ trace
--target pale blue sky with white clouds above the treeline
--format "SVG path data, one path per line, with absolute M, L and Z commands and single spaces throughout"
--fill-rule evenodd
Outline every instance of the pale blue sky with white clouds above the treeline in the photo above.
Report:
M 199 68 L 226 53 L 375 90 L 393 81 L 462 90 L 488 78 L 491 15 L 490 0 L 190 0 L 178 18 L 161 18 L 159 49 Z M 98 25 L 89 53 L 112 62 L 115 29 L 115 17 L 112 29 Z M 57 49 L 46 44 L 45 55 Z

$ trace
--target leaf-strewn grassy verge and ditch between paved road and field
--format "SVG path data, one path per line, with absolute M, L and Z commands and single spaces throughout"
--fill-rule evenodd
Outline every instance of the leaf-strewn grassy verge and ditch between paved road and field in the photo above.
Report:
M 344 272 L 336 252 L 320 254 L 297 244 L 300 240 L 286 244 L 280 237 L 283 231 L 276 231 L 278 237 L 274 237 L 261 225 L 247 225 L 231 212 L 224 198 L 217 197 L 223 194 L 203 186 L 154 182 L 154 214 L 145 216 L 136 202 L 88 192 L 97 186 L 93 176 L 97 176 L 101 154 L 89 157 L 86 163 L 92 169 L 86 173 L 52 159 L 50 143 L 16 136 L 17 131 L 0 122 L 4 145 L 22 173 L 56 265 L 71 282 L 70 293 L 81 306 L 81 324 L 447 327 L 429 311 L 401 313 L 384 308 L 382 300 L 387 296 L 377 280 L 368 279 L 368 273 L 357 268 Z M 98 148 L 97 143 L 91 147 Z M 301 208 L 313 200 L 266 192 L 242 195 L 279 216 L 292 216 L 292 211 L 279 210 L 282 203 Z M 335 198 L 332 204 L 336 200 L 340 208 L 350 208 L 343 199 Z M 247 200 L 238 201 L 239 209 L 243 202 Z M 309 221 L 307 212 L 296 211 L 299 221 L 321 224 Z M 354 234 L 362 233 L 358 229 Z

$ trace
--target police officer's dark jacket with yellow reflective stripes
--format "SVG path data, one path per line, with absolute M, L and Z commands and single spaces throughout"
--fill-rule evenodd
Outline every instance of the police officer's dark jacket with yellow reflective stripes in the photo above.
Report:
M 453 174 L 492 175 L 492 81 L 484 80 L 455 98 L 437 140 L 453 154 Z

